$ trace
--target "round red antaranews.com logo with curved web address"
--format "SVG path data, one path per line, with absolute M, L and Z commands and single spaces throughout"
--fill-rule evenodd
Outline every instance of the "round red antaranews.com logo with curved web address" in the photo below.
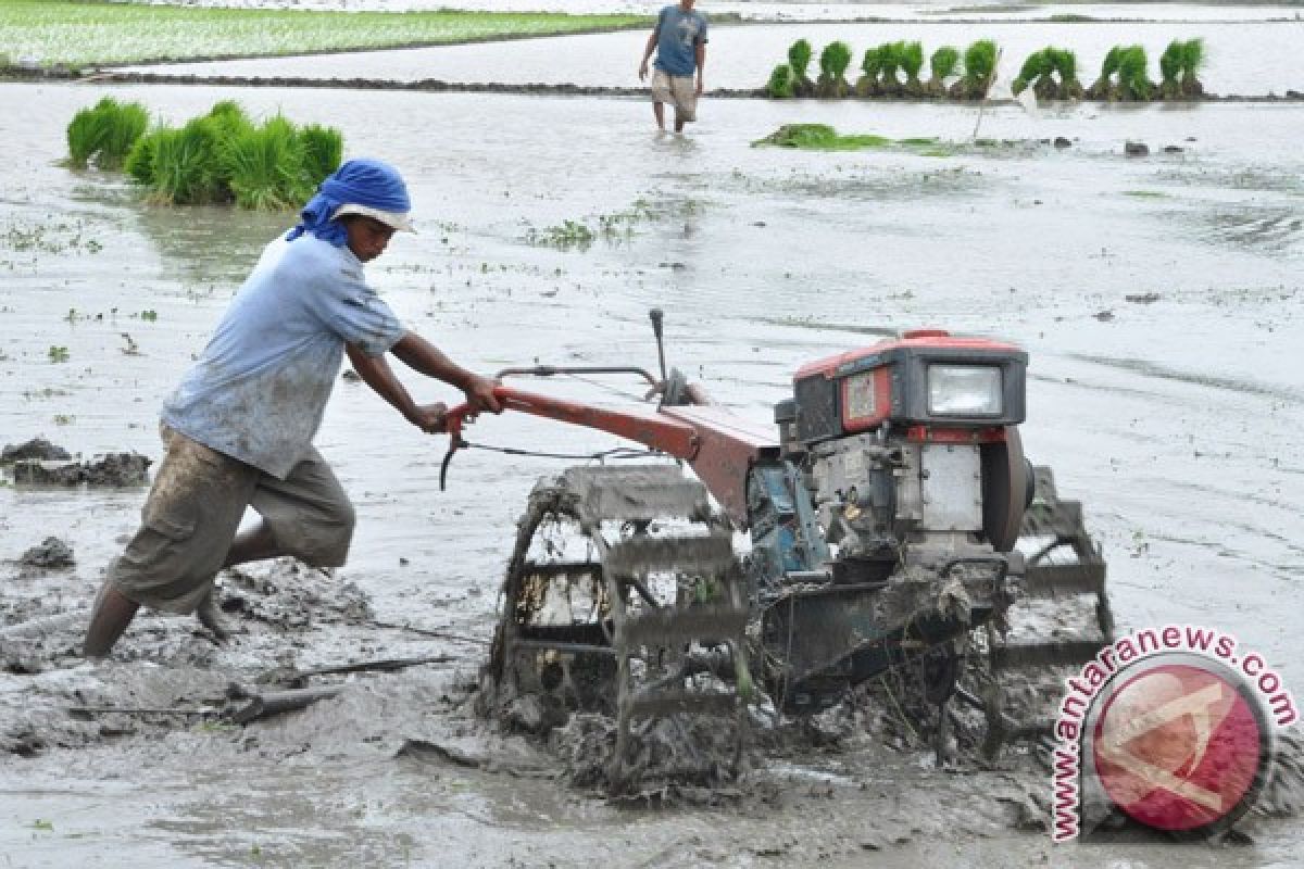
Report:
M 1102 835 L 1120 813 L 1175 835 L 1231 827 L 1267 783 L 1274 731 L 1297 719 L 1261 655 L 1196 625 L 1121 637 L 1067 687 L 1055 722 L 1055 842 Z

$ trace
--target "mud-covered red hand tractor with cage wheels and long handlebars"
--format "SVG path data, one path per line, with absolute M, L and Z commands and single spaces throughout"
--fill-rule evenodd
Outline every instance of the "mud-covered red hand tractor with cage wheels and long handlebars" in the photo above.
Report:
M 539 482 L 503 582 L 492 702 L 531 698 L 553 723 L 572 710 L 608 715 L 617 787 L 666 766 L 707 774 L 691 750 L 657 757 L 652 728 L 687 744 L 729 734 L 741 750 L 748 702 L 776 717 L 818 713 L 888 674 L 936 706 L 939 734 L 948 702 L 975 710 L 988 756 L 1043 732 L 1028 710 L 1048 707 L 1055 667 L 1093 657 L 1112 620 L 1078 504 L 1024 457 L 1026 354 L 906 332 L 802 366 L 771 427 L 668 375 L 660 311 L 652 323 L 660 378 L 632 367 L 499 375 L 643 378 L 655 410 L 496 392 L 507 410 L 678 461 L 576 466 Z M 449 414 L 441 486 L 468 446 L 468 413 Z M 735 546 L 739 532 L 750 548 Z

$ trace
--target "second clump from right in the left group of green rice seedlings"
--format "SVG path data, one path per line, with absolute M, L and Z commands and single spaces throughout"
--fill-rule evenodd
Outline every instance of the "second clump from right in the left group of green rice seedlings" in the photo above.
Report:
M 313 194 L 295 125 L 279 115 L 232 139 L 227 164 L 231 193 L 243 208 L 296 208 Z

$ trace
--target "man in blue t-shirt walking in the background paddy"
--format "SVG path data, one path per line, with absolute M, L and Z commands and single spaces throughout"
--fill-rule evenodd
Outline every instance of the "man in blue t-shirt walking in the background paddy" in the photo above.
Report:
M 639 81 L 648 77 L 648 59 L 656 52 L 652 73 L 652 113 L 656 125 L 665 129 L 665 103 L 674 106 L 674 132 L 698 120 L 698 98 L 702 96 L 702 68 L 707 61 L 707 18 L 694 12 L 696 0 L 679 0 L 657 16 L 639 64 Z M 696 74 L 694 74 L 696 73 Z

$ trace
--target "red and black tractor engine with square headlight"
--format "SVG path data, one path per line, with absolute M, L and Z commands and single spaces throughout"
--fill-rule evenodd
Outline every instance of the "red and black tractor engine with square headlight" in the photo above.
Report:
M 1031 481 L 1015 429 L 1026 363 L 1009 344 L 917 331 L 797 371 L 776 420 L 836 581 L 1013 546 Z

